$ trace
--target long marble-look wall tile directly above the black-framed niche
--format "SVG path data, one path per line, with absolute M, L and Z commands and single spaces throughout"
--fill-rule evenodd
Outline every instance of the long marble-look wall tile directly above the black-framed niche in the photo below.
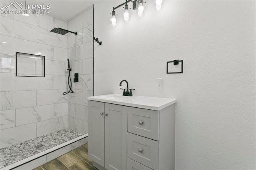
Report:
M 16 38 L 15 40 L 16 52 L 29 53 L 45 56 L 45 59 L 54 59 L 54 47 L 51 45 L 46 45 L 37 42 L 26 41 Z

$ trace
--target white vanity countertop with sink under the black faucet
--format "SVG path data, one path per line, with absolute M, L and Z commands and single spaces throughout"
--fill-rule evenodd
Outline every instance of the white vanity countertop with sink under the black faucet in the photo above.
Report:
M 112 103 L 116 105 L 150 109 L 155 111 L 160 111 L 161 109 L 164 109 L 165 107 L 176 103 L 176 99 L 144 96 L 123 96 L 120 94 L 92 96 L 88 97 L 87 99 L 92 101 L 100 101 L 104 103 Z

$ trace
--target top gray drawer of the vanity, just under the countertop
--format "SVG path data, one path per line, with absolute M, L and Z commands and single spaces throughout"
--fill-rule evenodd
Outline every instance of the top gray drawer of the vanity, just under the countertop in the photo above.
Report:
M 127 107 L 128 132 L 159 140 L 158 111 Z

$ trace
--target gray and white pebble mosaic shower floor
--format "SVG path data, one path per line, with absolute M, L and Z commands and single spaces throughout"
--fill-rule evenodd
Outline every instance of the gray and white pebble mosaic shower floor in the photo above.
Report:
M 0 168 L 81 136 L 69 128 L 0 149 Z

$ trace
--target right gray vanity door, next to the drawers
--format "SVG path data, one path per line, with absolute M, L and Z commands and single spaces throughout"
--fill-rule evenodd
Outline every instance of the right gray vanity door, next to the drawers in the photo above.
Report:
M 126 170 L 127 107 L 105 103 L 105 168 Z

